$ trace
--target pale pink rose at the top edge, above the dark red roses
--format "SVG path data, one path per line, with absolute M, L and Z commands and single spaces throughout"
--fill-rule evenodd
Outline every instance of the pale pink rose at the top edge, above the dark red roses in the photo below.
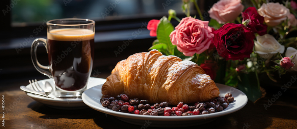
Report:
M 241 0 L 220 0 L 208 11 L 209 17 L 215 19 L 219 24 L 234 21 L 243 11 Z

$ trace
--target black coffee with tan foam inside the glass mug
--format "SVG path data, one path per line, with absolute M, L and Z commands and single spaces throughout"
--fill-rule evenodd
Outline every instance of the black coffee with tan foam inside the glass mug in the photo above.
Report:
M 94 32 L 56 29 L 48 33 L 48 60 L 56 86 L 76 91 L 86 86 L 94 60 Z

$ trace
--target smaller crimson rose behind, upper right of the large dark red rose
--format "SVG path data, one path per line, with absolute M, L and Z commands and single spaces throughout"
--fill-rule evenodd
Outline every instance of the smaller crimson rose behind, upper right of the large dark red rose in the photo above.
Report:
M 267 34 L 267 25 L 263 24 L 264 17 L 258 14 L 255 7 L 249 7 L 244 12 L 241 12 L 242 22 L 249 19 L 247 25 L 254 33 L 258 33 L 260 36 Z

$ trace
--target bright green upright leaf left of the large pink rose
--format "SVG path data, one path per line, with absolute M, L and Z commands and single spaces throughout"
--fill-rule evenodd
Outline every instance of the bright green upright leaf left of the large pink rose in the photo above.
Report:
M 164 43 L 167 45 L 167 50 L 170 55 L 174 55 L 173 53 L 173 45 L 170 41 L 170 33 L 174 30 L 173 25 L 168 21 L 168 19 L 164 16 L 160 19 L 160 22 L 157 27 L 157 39 L 159 43 Z

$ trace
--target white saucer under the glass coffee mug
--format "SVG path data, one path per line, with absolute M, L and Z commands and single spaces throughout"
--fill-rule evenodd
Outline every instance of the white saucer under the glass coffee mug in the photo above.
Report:
M 54 80 L 53 79 L 44 79 L 37 81 L 38 84 L 43 88 L 45 82 L 48 81 L 52 86 L 54 86 Z M 106 81 L 106 79 L 101 79 L 101 78 L 93 78 L 90 77 L 87 85 L 87 89 L 90 89 L 94 86 L 98 86 L 103 84 Z M 31 85 L 27 85 L 27 88 L 32 89 Z M 82 109 L 82 108 L 88 108 L 86 104 L 83 102 L 81 98 L 77 99 L 51 99 L 31 93 L 27 93 L 29 97 L 34 99 L 37 102 L 40 102 L 42 104 L 45 104 L 48 107 L 53 107 L 57 109 Z

